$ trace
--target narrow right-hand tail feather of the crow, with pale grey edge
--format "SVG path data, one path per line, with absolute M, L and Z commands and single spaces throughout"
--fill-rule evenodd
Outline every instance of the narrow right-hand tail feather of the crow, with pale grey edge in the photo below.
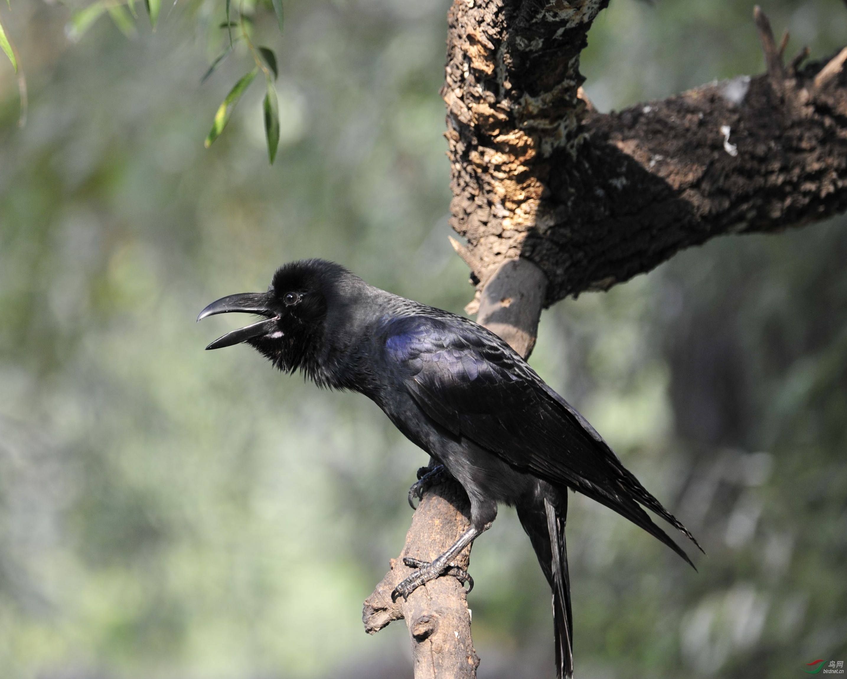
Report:
M 571 580 L 567 571 L 565 517 L 556 514 L 550 500 L 544 500 L 547 531 L 551 546 L 551 588 L 553 625 L 556 633 L 556 679 L 573 678 L 573 613 Z

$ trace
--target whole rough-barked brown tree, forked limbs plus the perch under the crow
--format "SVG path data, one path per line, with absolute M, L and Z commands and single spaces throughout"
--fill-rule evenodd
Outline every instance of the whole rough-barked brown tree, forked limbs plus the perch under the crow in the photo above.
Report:
M 579 54 L 608 0 L 455 0 L 446 82 L 453 240 L 471 269 L 468 312 L 523 356 L 541 310 L 607 290 L 686 247 L 776 232 L 847 209 L 847 47 L 788 65 L 765 14 L 767 72 L 598 113 Z M 468 527 L 455 484 L 432 489 L 401 554 L 431 560 Z M 468 566 L 470 548 L 460 565 Z M 415 676 L 473 677 L 462 588 L 442 577 L 407 601 L 401 559 L 365 602 L 374 633 L 405 618 Z M 452 638 L 451 638 L 452 637 Z M 455 642 L 454 642 L 455 639 Z

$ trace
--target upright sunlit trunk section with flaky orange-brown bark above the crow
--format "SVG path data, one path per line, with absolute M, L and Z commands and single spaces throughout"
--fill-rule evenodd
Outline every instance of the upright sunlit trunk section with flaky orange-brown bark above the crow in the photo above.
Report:
M 530 231 L 556 223 L 550 161 L 578 155 L 587 108 L 579 52 L 607 3 L 457 0 L 450 9 L 441 94 L 451 225 L 468 239 L 475 282 L 517 259 Z

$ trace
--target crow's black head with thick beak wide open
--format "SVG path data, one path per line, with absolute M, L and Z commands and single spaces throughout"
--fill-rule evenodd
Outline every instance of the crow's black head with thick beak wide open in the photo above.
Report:
M 219 313 L 253 313 L 263 320 L 224 334 L 207 349 L 246 343 L 267 356 L 280 370 L 301 367 L 323 340 L 330 301 L 352 273 L 320 259 L 291 262 L 274 273 L 268 292 L 245 292 L 213 301 L 197 320 Z

